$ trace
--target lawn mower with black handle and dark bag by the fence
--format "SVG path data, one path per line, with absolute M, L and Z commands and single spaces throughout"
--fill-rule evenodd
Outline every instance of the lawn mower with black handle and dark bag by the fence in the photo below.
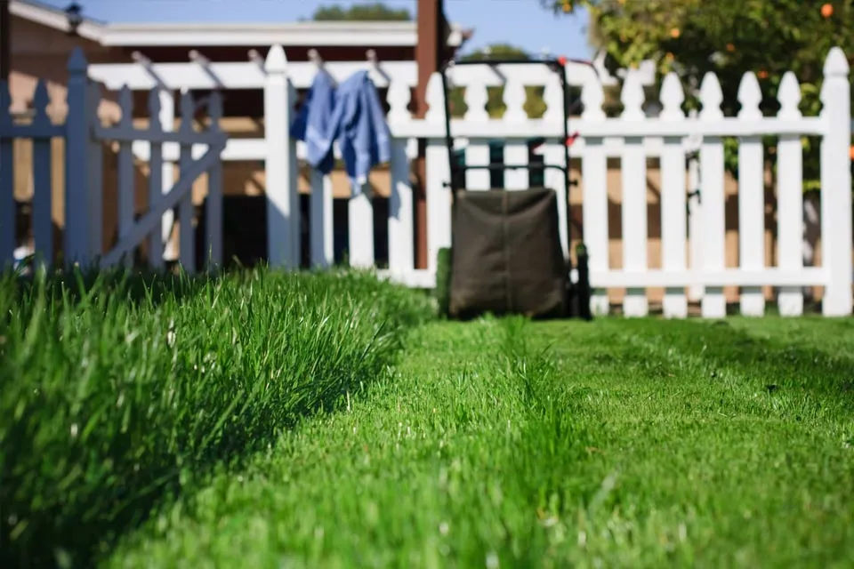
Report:
M 544 180 L 546 169 L 563 172 L 566 180 L 567 236 L 572 244 L 569 191 L 576 180 L 569 177 L 569 146 L 577 134 L 570 135 L 572 112 L 566 79 L 566 58 L 535 60 L 451 60 L 440 68 L 445 90 L 445 141 L 450 163 L 451 246 L 439 251 L 437 293 L 439 309 L 449 318 L 471 319 L 490 313 L 495 316 L 521 314 L 532 318 L 580 317 L 591 319 L 590 278 L 584 244 L 576 247 L 576 278 L 572 278 L 572 259 L 564 255 L 560 244 L 559 196 L 552 188 L 533 186 L 530 180 Z M 465 164 L 455 159 L 451 136 L 448 69 L 455 66 L 542 64 L 560 76 L 563 91 L 563 164 Z M 588 65 L 589 62 L 584 62 Z M 528 155 L 544 145 L 545 139 L 528 140 Z M 468 190 L 465 172 L 486 169 L 490 172 L 528 170 L 527 189 Z

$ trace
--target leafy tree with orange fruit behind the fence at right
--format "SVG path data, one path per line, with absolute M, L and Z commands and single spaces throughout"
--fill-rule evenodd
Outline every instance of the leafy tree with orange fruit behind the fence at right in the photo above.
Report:
M 801 82 L 804 113 L 821 107 L 822 67 L 834 45 L 854 54 L 854 0 L 543 0 L 557 13 L 579 6 L 591 15 L 589 38 L 607 53 L 609 69 L 657 61 L 660 79 L 675 71 L 686 87 L 686 105 L 697 107 L 696 89 L 706 72 L 721 82 L 723 110 L 737 113 L 738 85 L 756 74 L 762 111 L 777 112 L 777 87 L 786 71 Z M 564 8 L 568 6 L 568 8 Z M 804 189 L 818 188 L 818 156 L 804 139 Z M 767 140 L 769 154 L 775 140 Z M 728 141 L 727 164 L 737 167 L 737 144 Z M 770 156 L 769 156 L 770 157 Z

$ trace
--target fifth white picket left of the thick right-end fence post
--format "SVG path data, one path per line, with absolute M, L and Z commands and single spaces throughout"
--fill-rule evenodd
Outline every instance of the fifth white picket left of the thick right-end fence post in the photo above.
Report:
M 622 119 L 638 122 L 645 119 L 641 76 L 629 70 L 621 93 L 624 111 Z M 643 273 L 647 262 L 647 154 L 641 137 L 626 137 L 621 173 L 623 176 L 623 270 Z M 665 220 L 665 223 L 670 222 Z M 625 291 L 623 313 L 627 317 L 645 317 L 649 313 L 647 291 L 629 287 Z

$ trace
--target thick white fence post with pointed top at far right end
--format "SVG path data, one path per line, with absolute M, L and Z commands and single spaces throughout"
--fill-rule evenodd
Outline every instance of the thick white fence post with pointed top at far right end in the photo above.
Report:
M 821 262 L 827 273 L 822 301 L 826 317 L 851 314 L 851 107 L 849 66 L 834 47 L 827 54 L 821 88 Z

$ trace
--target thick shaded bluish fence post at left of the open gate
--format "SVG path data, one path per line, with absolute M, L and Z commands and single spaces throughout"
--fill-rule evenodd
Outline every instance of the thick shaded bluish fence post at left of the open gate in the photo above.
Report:
M 65 119 L 65 265 L 93 261 L 92 196 L 89 180 L 92 126 L 88 63 L 79 47 L 68 60 L 68 116 Z

